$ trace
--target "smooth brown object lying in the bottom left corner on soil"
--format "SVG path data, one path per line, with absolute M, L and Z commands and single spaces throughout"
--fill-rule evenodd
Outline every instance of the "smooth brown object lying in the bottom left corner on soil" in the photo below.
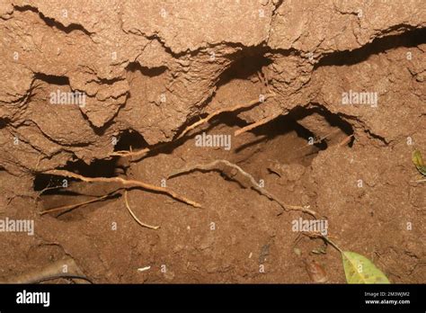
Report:
M 85 277 L 78 265 L 75 264 L 74 259 L 67 257 L 64 260 L 49 264 L 42 269 L 36 269 L 29 273 L 22 273 L 6 278 L 4 282 L 0 283 L 37 283 L 55 280 L 58 278 L 77 278 L 91 282 L 87 277 Z

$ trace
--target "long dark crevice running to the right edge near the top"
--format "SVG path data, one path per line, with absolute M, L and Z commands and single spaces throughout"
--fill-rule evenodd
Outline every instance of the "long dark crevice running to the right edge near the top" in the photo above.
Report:
M 408 28 L 408 27 L 407 27 Z M 412 29 L 402 34 L 377 38 L 359 49 L 333 52 L 315 64 L 318 67 L 351 66 L 367 60 L 371 55 L 399 47 L 413 48 L 426 43 L 426 28 Z

